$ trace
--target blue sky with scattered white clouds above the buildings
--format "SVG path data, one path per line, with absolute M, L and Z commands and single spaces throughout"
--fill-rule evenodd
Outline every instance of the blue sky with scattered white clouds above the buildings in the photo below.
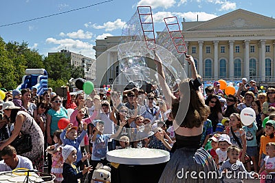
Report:
M 45 56 L 66 48 L 95 58 L 96 39 L 122 35 L 137 6 L 152 7 L 155 31 L 161 31 L 164 17 L 197 21 L 198 14 L 199 21 L 207 21 L 239 8 L 275 17 L 274 5 L 274 0 L 1 0 L 0 36 L 6 43 L 25 41 Z M 47 17 L 52 14 L 58 15 Z

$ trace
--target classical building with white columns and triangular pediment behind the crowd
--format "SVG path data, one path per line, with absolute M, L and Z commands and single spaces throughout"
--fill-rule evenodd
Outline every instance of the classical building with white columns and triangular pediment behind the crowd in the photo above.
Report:
M 195 58 L 198 73 L 204 80 L 246 77 L 257 82 L 275 81 L 275 19 L 239 9 L 210 21 L 181 24 L 187 52 Z M 119 40 L 120 36 L 96 40 L 96 57 L 118 45 Z M 96 78 L 111 83 L 120 74 L 116 52 L 114 48 L 105 61 L 100 59 L 96 63 Z M 190 76 L 188 65 L 184 69 Z

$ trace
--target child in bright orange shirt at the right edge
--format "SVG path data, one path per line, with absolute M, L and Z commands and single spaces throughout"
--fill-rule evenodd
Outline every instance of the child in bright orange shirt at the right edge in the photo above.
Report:
M 265 156 L 267 155 L 265 146 L 268 142 L 275 142 L 274 138 L 274 132 L 275 132 L 275 121 L 274 120 L 268 120 L 265 123 L 265 135 L 261 136 L 261 146 L 260 146 L 260 152 L 259 152 L 259 166 L 263 166 L 263 159 L 265 159 Z

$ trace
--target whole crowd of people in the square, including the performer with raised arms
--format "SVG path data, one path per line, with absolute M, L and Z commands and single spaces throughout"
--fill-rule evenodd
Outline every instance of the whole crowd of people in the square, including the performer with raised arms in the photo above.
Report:
M 225 176 L 228 171 L 243 171 L 250 177 L 271 175 L 265 182 L 275 182 L 275 88 L 264 93 L 255 80 L 248 83 L 243 78 L 233 95 L 225 95 L 219 81 L 203 91 L 192 56 L 187 55 L 186 61 L 192 78 L 170 89 L 155 54 L 161 92 L 156 85 L 148 93 L 133 87 L 105 94 L 94 90 L 89 95 L 70 93 L 67 87 L 64 98 L 51 88 L 42 96 L 35 87 L 7 92 L 0 105 L 0 171 L 19 166 L 44 171 L 47 165 L 55 182 L 85 182 L 91 181 L 89 172 L 98 163 L 109 164 L 108 151 L 147 147 L 170 152 L 159 182 L 182 182 L 176 176 L 182 168 L 223 175 L 221 180 L 205 182 L 232 182 Z M 242 125 L 240 118 L 245 107 L 256 113 L 249 126 Z M 58 127 L 62 118 L 70 121 L 65 129 Z M 11 144 L 22 133 L 31 136 L 32 149 L 18 154 Z M 245 161 L 246 155 L 251 161 Z M 232 164 L 240 169 L 232 169 Z

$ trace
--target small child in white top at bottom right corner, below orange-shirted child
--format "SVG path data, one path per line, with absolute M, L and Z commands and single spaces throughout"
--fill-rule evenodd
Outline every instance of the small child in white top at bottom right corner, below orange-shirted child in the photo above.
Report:
M 266 175 L 265 177 L 267 177 L 267 179 L 265 180 L 265 182 L 267 183 L 275 182 L 275 143 L 274 142 L 267 143 L 265 149 L 267 151 L 267 156 L 265 156 L 265 159 L 264 159 L 265 164 L 264 166 L 261 167 L 261 170 L 259 173 L 261 173 L 262 171 L 265 171 L 265 173 L 272 176 L 270 177 Z

